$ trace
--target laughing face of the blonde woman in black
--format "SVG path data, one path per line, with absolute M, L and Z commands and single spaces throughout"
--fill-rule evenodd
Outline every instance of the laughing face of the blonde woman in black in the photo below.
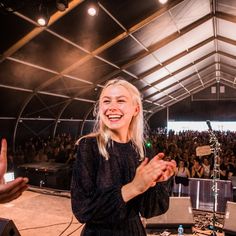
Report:
M 122 85 L 110 85 L 100 96 L 99 112 L 102 122 L 113 132 L 127 135 L 133 116 L 138 114 L 138 105 Z

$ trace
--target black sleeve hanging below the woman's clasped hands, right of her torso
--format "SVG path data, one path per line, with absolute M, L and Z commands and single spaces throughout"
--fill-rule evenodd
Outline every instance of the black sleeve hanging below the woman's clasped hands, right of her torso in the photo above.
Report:
M 169 208 L 169 194 L 171 192 L 173 177 L 168 181 L 157 183 L 148 189 L 140 203 L 140 214 L 145 218 L 151 218 L 164 214 Z

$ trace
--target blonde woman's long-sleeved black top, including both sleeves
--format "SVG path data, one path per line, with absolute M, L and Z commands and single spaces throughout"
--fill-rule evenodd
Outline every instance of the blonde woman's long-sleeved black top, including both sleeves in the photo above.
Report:
M 86 223 L 83 236 L 144 236 L 140 215 L 150 218 L 169 207 L 168 182 L 157 184 L 125 203 L 121 187 L 134 178 L 140 164 L 131 142 L 112 141 L 110 158 L 99 154 L 96 138 L 80 141 L 71 183 L 72 210 Z

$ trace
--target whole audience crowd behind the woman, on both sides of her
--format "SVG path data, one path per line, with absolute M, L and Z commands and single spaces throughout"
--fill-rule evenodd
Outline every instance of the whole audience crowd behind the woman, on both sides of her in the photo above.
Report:
M 220 147 L 220 179 L 230 180 L 236 175 L 236 132 L 216 131 Z M 76 157 L 76 140 L 70 134 L 55 138 L 30 138 L 18 145 L 13 154 L 8 152 L 8 170 L 25 163 L 73 163 Z M 177 163 L 176 175 L 188 178 L 212 178 L 214 155 L 197 156 L 196 148 L 209 145 L 209 133 L 198 131 L 175 132 L 158 128 L 147 136 L 146 148 L 154 153 L 163 152 L 167 159 Z M 14 160 L 14 161 L 13 161 Z

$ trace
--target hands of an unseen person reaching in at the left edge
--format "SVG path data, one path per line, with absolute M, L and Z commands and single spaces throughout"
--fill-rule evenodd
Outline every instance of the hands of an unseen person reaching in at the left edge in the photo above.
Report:
M 27 189 L 28 178 L 16 178 L 5 183 L 4 174 L 7 170 L 7 141 L 2 139 L 0 154 L 0 203 L 10 202 L 18 198 Z

